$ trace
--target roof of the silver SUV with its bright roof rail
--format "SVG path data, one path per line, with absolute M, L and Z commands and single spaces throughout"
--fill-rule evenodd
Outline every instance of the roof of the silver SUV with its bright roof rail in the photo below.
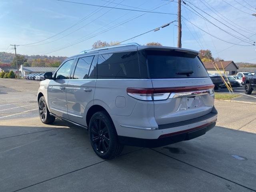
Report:
M 163 50 L 163 51 L 175 50 L 175 51 L 179 51 L 179 52 L 187 52 L 190 54 L 198 55 L 198 51 L 190 50 L 190 49 L 167 47 L 167 46 L 153 46 L 153 45 L 141 46 L 139 44 L 132 43 L 132 44 L 102 47 L 102 48 L 97 48 L 97 49 L 92 49 L 92 50 L 84 50 L 76 56 L 79 56 L 81 54 L 93 54 L 93 53 L 107 54 L 110 52 L 113 53 L 113 52 L 137 51 L 137 50 Z M 72 56 L 72 57 L 74 57 L 74 56 Z

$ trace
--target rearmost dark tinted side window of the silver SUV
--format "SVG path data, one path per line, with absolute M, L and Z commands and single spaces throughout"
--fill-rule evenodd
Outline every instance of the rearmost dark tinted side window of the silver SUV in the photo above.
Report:
M 98 56 L 98 79 L 140 78 L 137 52 Z

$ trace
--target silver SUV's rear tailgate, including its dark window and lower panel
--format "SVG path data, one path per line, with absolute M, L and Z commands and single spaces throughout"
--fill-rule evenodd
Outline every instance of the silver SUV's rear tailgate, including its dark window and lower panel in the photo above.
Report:
M 158 125 L 204 116 L 212 111 L 212 80 L 196 54 L 179 51 L 147 51 L 153 89 L 168 92 L 168 99 L 154 99 Z

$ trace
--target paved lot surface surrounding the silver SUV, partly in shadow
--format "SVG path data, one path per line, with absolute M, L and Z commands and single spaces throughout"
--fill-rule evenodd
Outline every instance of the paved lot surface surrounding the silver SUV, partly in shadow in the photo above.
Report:
M 204 136 L 102 160 L 87 130 L 40 122 L 38 83 L 0 79 L 0 191 L 256 191 L 256 104 L 216 101 Z

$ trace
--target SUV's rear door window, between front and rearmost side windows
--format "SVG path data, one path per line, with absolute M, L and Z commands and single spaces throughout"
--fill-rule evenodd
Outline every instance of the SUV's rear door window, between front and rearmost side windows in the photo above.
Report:
M 88 79 L 93 57 L 94 56 L 88 56 L 78 59 L 73 79 Z

